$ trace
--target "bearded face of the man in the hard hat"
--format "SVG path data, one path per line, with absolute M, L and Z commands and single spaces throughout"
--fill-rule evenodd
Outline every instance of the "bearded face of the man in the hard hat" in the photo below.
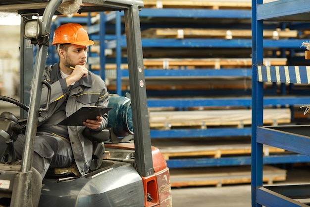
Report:
M 65 65 L 75 67 L 86 66 L 87 46 L 71 45 L 65 52 Z

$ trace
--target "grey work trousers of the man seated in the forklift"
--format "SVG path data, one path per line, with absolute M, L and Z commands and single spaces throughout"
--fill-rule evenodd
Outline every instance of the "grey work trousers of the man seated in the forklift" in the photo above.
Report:
M 22 158 L 25 135 L 21 134 L 14 142 L 16 159 Z M 73 152 L 68 139 L 50 133 L 38 132 L 35 138 L 33 167 L 44 178 L 49 167 L 69 167 L 74 163 Z

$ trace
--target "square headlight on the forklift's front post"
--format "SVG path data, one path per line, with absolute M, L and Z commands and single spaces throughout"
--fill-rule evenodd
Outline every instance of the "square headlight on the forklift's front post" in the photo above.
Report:
M 39 39 L 44 34 L 44 26 L 40 19 L 30 19 L 24 22 L 25 39 Z

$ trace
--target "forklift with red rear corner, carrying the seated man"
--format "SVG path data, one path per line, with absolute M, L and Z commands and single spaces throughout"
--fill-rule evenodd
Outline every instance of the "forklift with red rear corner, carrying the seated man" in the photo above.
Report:
M 5 146 L 0 147 L 12 153 L 18 134 L 26 135 L 22 159 L 15 161 L 14 153 L 8 153 L 0 163 L 1 207 L 172 206 L 169 169 L 159 149 L 151 145 L 139 19 L 143 5 L 142 0 L 0 0 L 0 12 L 21 15 L 20 101 L 0 96 L 0 101 L 21 108 L 20 118 L 1 113 L 0 140 Z M 40 98 L 43 84 L 49 87 L 42 76 L 52 17 L 104 11 L 124 11 L 130 97 L 110 96 L 112 126 L 95 140 L 99 144 L 94 146 L 99 147 L 94 147 L 86 174 L 74 173 L 74 167 L 55 168 L 42 181 L 32 161 L 38 117 L 49 110 L 48 103 L 40 108 Z

